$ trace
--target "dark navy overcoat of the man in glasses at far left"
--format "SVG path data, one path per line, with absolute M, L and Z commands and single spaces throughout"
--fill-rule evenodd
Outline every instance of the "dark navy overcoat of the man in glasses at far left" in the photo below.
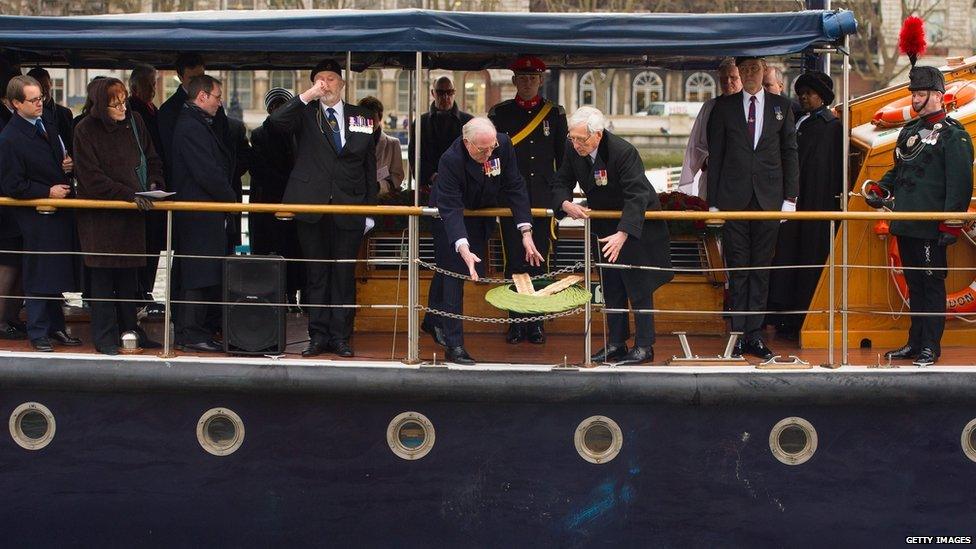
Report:
M 44 119 L 46 127 L 56 123 Z M 24 200 L 49 198 L 51 187 L 66 183 L 61 169 L 61 144 L 57 134 L 45 140 L 37 127 L 14 115 L 0 132 L 0 190 L 4 196 Z M 24 237 L 25 251 L 71 252 L 74 250 L 74 215 L 66 208 L 40 214 L 34 208 L 8 208 Z M 74 260 L 69 255 L 24 256 L 24 291 L 33 295 L 57 295 L 75 289 Z

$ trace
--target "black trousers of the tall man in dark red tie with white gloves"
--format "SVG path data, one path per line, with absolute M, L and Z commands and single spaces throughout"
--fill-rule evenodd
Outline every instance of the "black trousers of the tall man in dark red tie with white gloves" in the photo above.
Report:
M 761 211 L 753 196 L 747 211 Z M 726 221 L 722 229 L 722 255 L 725 266 L 768 267 L 776 253 L 779 221 Z M 729 272 L 729 297 L 732 312 L 762 311 L 769 298 L 769 271 Z M 742 332 L 748 341 L 758 337 L 763 315 L 732 315 L 732 331 Z

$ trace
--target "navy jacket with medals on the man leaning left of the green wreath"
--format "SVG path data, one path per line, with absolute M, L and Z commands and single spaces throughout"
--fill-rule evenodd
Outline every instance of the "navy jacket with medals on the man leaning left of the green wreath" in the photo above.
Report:
M 498 175 L 486 175 L 484 164 L 471 159 L 460 137 L 441 155 L 430 206 L 440 213 L 440 220 L 433 225 L 434 253 L 437 265 L 444 269 L 468 274 L 467 266 L 454 249 L 455 242 L 467 238 L 470 250 L 482 259 L 478 272 L 484 272 L 488 238 L 497 223 L 494 217 L 465 217 L 465 209 L 507 205 L 516 225 L 532 222 L 529 194 L 519 173 L 515 147 L 503 133 L 497 134 L 497 139 L 498 148 L 492 152 L 489 162 L 499 163 Z

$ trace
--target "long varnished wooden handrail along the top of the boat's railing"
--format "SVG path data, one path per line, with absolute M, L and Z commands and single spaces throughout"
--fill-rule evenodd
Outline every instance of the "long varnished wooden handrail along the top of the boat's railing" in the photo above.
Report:
M 75 209 L 109 209 L 134 210 L 136 205 L 121 200 L 85 200 L 79 198 L 42 198 L 37 200 L 14 200 L 0 197 L 0 206 L 18 206 L 32 208 L 75 208 Z M 157 210 L 166 211 L 202 211 L 202 212 L 256 212 L 256 213 L 288 213 L 288 214 L 338 214 L 338 215 L 428 215 L 436 213 L 434 208 L 418 206 L 349 206 L 341 204 L 242 204 L 237 202 L 176 202 L 156 201 Z M 481 210 L 465 210 L 464 215 L 472 217 L 511 217 L 508 208 L 485 208 Z M 532 208 L 535 217 L 552 215 L 550 210 Z M 592 219 L 619 219 L 620 212 L 610 210 L 590 211 Z M 644 216 L 647 219 L 666 219 L 683 221 L 703 221 L 712 219 L 746 220 L 746 219 L 787 219 L 787 220 L 927 220 L 943 221 L 958 219 L 964 221 L 976 220 L 976 212 L 688 212 L 688 211 L 652 211 Z

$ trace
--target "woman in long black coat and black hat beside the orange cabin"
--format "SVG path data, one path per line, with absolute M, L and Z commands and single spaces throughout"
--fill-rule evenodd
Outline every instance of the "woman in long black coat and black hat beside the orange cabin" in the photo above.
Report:
M 797 211 L 840 209 L 844 192 L 841 175 L 844 130 L 830 111 L 834 82 L 826 74 L 811 71 L 793 85 L 802 114 L 796 121 L 797 156 L 800 163 L 800 194 Z M 786 221 L 780 225 L 773 265 L 823 265 L 830 252 L 830 221 Z M 821 268 L 779 269 L 769 276 L 768 307 L 773 311 L 808 309 L 820 281 Z M 766 317 L 776 333 L 797 339 L 803 314 Z

